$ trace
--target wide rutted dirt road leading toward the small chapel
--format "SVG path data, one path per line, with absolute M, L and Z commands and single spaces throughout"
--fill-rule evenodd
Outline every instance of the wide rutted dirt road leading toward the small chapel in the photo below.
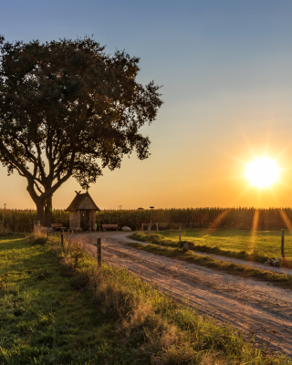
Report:
M 269 349 L 292 357 L 292 291 L 254 279 L 223 274 L 203 266 L 153 255 L 127 246 L 129 233 L 106 232 L 75 236 L 95 254 L 102 237 L 102 259 L 127 267 L 163 292 L 188 299 L 199 313 L 232 323 L 245 336 L 265 340 Z M 73 236 L 74 237 L 74 236 Z

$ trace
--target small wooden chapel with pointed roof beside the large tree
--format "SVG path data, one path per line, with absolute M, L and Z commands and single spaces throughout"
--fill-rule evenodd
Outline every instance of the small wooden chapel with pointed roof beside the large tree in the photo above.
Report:
M 87 193 L 75 192 L 76 196 L 66 209 L 69 212 L 69 227 L 72 231 L 95 231 L 98 205 Z

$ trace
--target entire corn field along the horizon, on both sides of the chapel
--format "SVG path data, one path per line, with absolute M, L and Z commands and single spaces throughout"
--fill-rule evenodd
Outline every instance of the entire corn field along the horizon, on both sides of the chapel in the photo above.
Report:
M 150 223 L 150 210 L 109 210 L 97 212 L 98 229 L 101 224 L 125 225 L 131 229 L 140 229 L 141 224 Z M 30 232 L 36 221 L 36 210 L 0 209 L 0 233 Z M 158 209 L 152 212 L 152 223 L 159 223 L 162 229 L 178 228 L 236 228 L 281 229 L 292 222 L 291 208 L 190 208 Z M 69 226 L 69 214 L 63 210 L 53 210 L 53 223 Z

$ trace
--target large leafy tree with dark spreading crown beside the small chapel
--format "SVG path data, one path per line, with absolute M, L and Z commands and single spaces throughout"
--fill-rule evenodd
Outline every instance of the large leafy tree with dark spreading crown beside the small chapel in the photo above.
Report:
M 51 223 L 52 195 L 73 176 L 82 188 L 120 168 L 162 105 L 159 87 L 137 82 L 139 58 L 105 53 L 93 38 L 40 44 L 0 36 L 0 160 L 26 178 L 37 219 Z

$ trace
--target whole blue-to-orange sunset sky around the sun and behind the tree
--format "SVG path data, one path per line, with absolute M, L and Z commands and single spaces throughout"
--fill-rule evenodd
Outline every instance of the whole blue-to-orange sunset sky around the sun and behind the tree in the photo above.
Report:
M 12 0 L 0 34 L 40 42 L 91 36 L 141 57 L 138 81 L 164 104 L 141 129 L 151 156 L 125 157 L 89 193 L 100 209 L 292 205 L 292 2 L 286 0 Z M 258 189 L 246 165 L 266 156 L 279 181 Z M 54 194 L 67 208 L 70 179 Z M 34 208 L 26 180 L 0 167 L 0 207 Z

